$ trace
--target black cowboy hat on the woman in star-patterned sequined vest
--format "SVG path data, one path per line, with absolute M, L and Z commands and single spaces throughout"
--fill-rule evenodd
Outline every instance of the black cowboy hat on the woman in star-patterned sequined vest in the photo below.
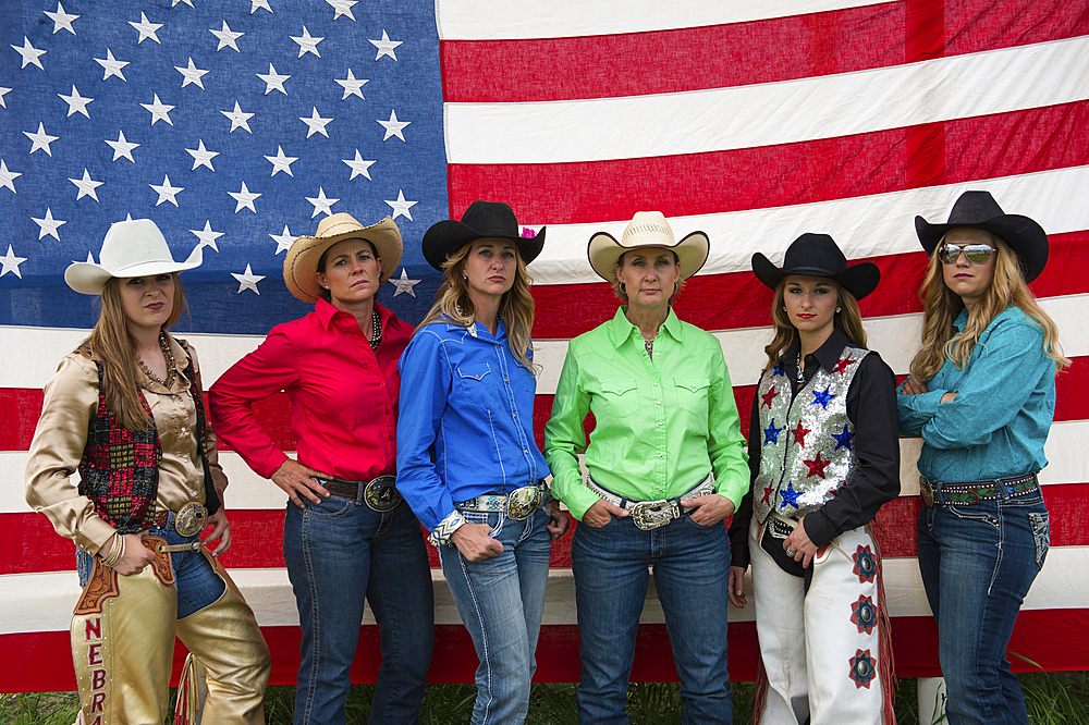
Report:
M 774 290 L 788 274 L 827 277 L 849 292 L 855 299 L 861 299 L 873 292 L 881 279 L 881 270 L 873 262 L 859 262 L 847 267 L 847 258 L 828 234 L 803 234 L 786 248 L 783 268 L 759 251 L 752 255 L 752 271 L 756 279 Z

